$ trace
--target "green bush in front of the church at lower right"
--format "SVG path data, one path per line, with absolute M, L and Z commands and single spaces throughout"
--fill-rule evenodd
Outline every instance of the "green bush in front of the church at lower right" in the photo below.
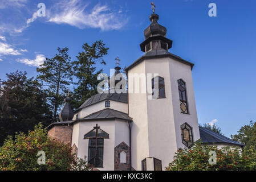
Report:
M 216 164 L 210 164 L 210 151 L 216 152 Z M 180 148 L 167 171 L 243 171 L 256 170 L 256 152 L 252 147 L 207 146 L 196 142 L 191 148 Z

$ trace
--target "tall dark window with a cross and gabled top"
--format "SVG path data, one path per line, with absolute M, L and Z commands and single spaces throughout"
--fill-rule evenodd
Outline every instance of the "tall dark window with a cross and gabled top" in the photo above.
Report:
M 104 138 L 109 138 L 109 135 L 97 124 L 93 130 L 84 135 L 84 139 L 89 139 L 88 164 L 92 167 L 103 167 Z

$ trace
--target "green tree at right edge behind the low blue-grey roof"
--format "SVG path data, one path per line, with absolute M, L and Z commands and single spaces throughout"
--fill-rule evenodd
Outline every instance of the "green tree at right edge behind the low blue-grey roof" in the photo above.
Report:
M 231 139 L 245 144 L 245 146 L 254 146 L 256 149 L 256 123 L 250 121 L 249 125 L 242 126 L 238 134 L 231 135 Z

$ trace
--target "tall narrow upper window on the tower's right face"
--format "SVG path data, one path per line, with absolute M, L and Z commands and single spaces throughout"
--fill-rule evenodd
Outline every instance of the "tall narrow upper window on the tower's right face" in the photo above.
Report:
M 180 109 L 181 113 L 189 114 L 188 100 L 186 97 L 186 85 L 183 80 L 178 80 L 178 94 L 180 96 Z

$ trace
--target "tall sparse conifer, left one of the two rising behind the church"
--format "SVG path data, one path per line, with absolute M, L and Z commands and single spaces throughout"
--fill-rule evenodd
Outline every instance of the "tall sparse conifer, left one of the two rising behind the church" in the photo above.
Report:
M 36 68 L 39 73 L 37 78 L 44 86 L 47 86 L 48 100 L 54 110 L 54 119 L 58 119 L 57 111 L 63 104 L 64 92 L 67 86 L 72 83 L 71 57 L 68 56 L 68 48 L 58 48 L 58 54 L 51 59 L 46 58 L 40 68 Z

